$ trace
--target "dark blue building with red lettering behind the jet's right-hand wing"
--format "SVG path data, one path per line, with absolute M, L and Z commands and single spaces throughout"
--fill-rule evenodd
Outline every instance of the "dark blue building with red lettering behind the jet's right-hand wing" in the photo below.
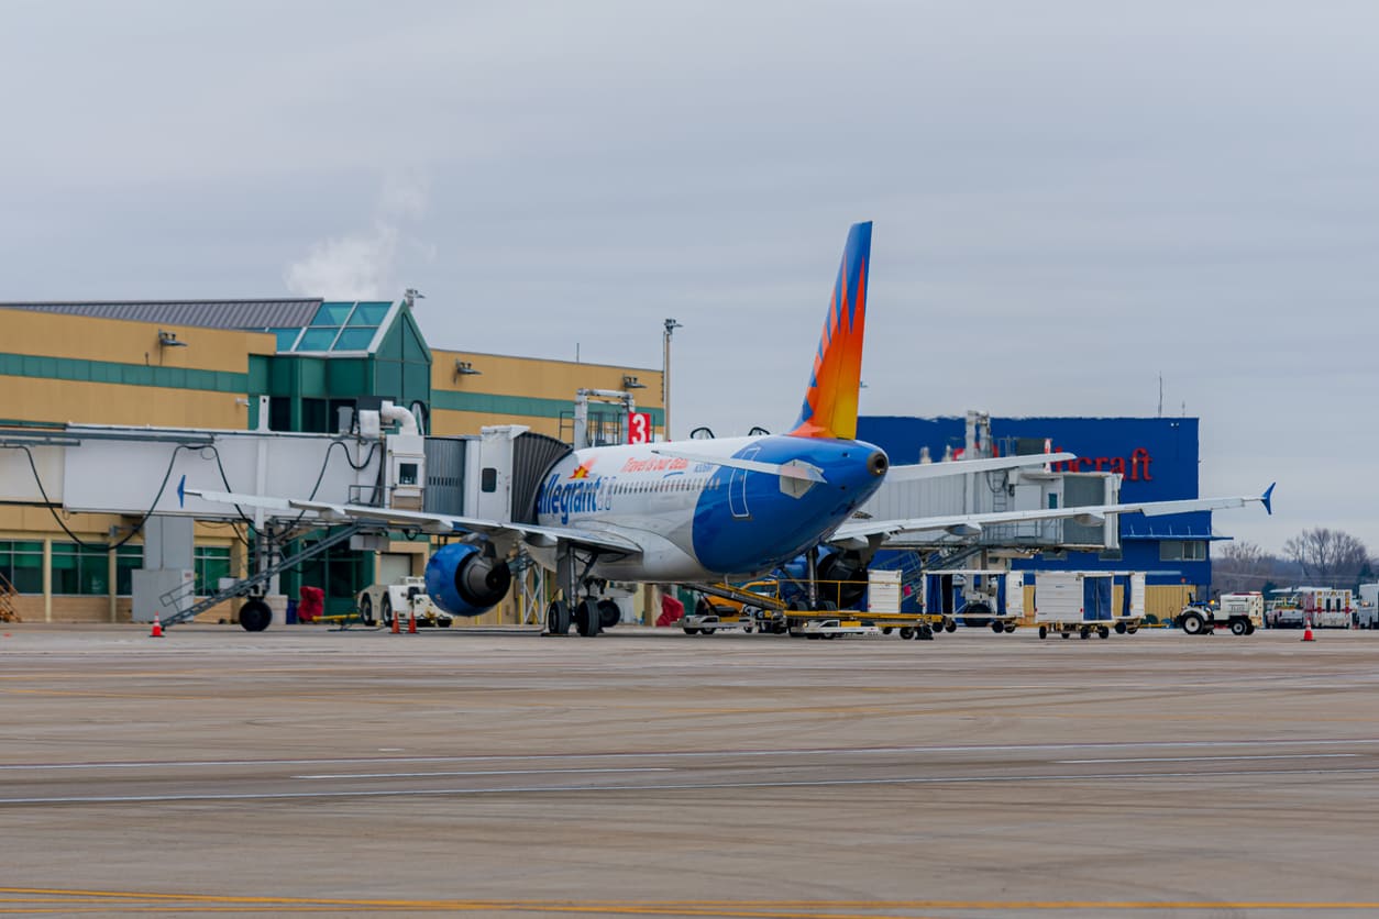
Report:
M 887 452 L 894 464 L 940 460 L 965 448 L 963 417 L 863 416 L 858 437 Z M 1056 463 L 1055 473 L 1114 473 L 1123 502 L 1171 502 L 1200 497 L 1198 419 L 1196 417 L 992 417 L 992 446 L 998 455 L 1070 452 L 1077 460 Z M 1071 504 L 1096 504 L 1088 499 Z M 1146 610 L 1176 615 L 1211 586 L 1211 511 L 1146 517 L 1118 515 L 1120 546 L 1100 551 L 1043 551 L 1015 559 L 1016 570 L 1146 572 Z M 1114 540 L 1113 540 L 1114 541 Z

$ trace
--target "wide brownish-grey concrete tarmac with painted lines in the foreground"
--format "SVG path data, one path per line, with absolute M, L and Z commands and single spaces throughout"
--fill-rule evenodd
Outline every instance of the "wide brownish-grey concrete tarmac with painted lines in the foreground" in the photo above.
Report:
M 1379 632 L 0 630 L 0 913 L 1379 915 Z

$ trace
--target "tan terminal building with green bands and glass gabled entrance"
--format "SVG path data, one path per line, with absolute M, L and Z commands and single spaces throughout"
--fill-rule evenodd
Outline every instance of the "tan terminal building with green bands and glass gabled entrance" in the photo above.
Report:
M 634 395 L 636 411 L 663 433 L 661 369 L 441 350 L 425 339 L 407 299 L 0 304 L 7 428 L 334 433 L 353 412 L 387 400 L 433 437 L 521 424 L 570 442 L 578 390 Z M 623 405 L 590 405 L 589 441 L 622 442 L 626 419 Z M 25 621 L 130 621 L 132 572 L 143 566 L 138 524 L 0 504 L 0 590 L 12 587 Z M 244 570 L 247 546 L 234 526 L 197 524 L 194 543 L 197 594 Z M 302 584 L 321 587 L 327 613 L 342 613 L 375 580 L 419 575 L 426 550 L 425 540 L 400 533 L 387 553 L 332 547 L 284 575 L 281 590 L 295 597 Z M 476 621 L 516 621 L 516 612 L 505 602 Z M 233 619 L 228 605 L 210 619 L 217 615 Z

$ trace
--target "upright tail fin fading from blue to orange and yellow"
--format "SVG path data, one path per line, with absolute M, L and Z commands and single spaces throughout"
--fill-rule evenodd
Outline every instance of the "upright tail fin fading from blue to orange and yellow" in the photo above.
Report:
M 866 329 L 866 285 L 872 262 L 872 223 L 854 223 L 843 249 L 843 266 L 823 320 L 804 408 L 793 437 L 858 435 L 858 389 L 862 383 L 862 333 Z

